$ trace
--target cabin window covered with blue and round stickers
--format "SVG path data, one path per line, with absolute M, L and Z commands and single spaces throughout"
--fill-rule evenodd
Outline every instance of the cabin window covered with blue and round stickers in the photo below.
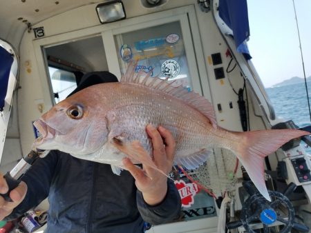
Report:
M 151 77 L 169 78 L 192 89 L 180 21 L 117 34 L 114 39 L 122 74 L 134 60 L 135 72 L 151 72 Z

